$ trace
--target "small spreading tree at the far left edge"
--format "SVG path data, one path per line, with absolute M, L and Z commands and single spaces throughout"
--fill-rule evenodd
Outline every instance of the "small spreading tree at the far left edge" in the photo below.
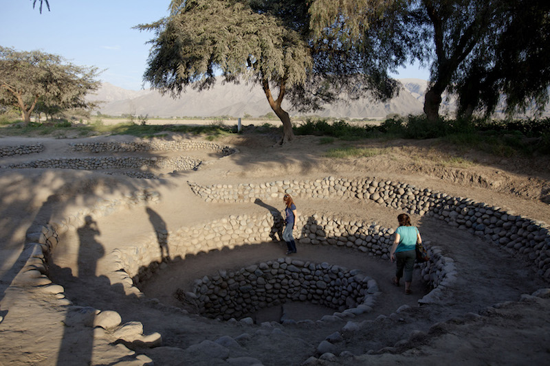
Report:
M 96 67 L 79 67 L 61 56 L 0 47 L 0 104 L 16 106 L 25 126 L 41 102 L 60 110 L 89 108 L 85 95 L 96 91 Z

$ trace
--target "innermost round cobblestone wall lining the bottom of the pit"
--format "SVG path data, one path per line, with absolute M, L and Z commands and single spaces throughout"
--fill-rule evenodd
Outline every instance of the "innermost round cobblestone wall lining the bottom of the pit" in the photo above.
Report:
M 376 281 L 362 271 L 278 258 L 197 279 L 182 300 L 195 304 L 203 316 L 229 320 L 286 301 L 307 301 L 336 309 L 336 314 L 362 314 L 372 310 L 369 304 L 377 293 Z

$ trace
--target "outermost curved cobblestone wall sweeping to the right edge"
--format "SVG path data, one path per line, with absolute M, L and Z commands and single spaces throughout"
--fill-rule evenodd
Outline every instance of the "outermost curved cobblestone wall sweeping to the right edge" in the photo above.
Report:
M 538 275 L 550 280 L 548 226 L 470 198 L 453 197 L 401 182 L 378 181 L 375 178 L 336 179 L 333 176 L 315 181 L 276 181 L 235 186 L 190 182 L 189 185 L 192 192 L 206 202 L 280 200 L 285 193 L 301 198 L 374 201 L 386 207 L 444 220 L 452 227 L 481 236 L 511 253 L 520 253 L 538 268 Z

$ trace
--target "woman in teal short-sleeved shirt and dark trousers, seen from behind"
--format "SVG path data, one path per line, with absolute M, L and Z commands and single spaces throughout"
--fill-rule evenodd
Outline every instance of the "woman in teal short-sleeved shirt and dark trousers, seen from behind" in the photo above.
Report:
M 407 214 L 397 216 L 399 227 L 395 230 L 395 240 L 390 251 L 390 259 L 393 263 L 397 259 L 397 268 L 393 284 L 399 286 L 399 279 L 403 277 L 405 270 L 405 293 L 410 294 L 410 282 L 412 282 L 412 268 L 415 266 L 416 245 L 422 242 L 417 227 L 410 225 L 410 217 Z

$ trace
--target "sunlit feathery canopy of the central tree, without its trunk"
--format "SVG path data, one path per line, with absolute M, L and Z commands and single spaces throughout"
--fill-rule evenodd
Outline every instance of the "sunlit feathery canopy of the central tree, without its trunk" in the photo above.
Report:
M 227 82 L 284 80 L 292 87 L 312 67 L 300 33 L 247 1 L 173 1 L 169 16 L 138 29 L 155 32 L 144 80 L 165 92 L 210 87 L 220 73 Z

